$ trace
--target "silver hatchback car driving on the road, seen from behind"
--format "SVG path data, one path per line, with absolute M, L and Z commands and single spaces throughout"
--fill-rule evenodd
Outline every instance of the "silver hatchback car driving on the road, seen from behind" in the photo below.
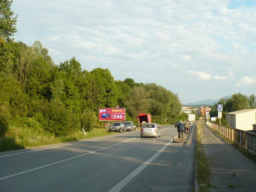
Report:
M 156 123 L 146 123 L 140 130 L 140 137 L 155 137 L 161 136 L 161 130 Z

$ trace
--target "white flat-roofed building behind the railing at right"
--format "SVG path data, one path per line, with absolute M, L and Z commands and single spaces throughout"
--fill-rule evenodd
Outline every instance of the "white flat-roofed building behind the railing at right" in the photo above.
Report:
M 253 130 L 252 124 L 256 124 L 256 109 L 243 109 L 226 114 L 226 120 L 230 127 L 240 130 Z

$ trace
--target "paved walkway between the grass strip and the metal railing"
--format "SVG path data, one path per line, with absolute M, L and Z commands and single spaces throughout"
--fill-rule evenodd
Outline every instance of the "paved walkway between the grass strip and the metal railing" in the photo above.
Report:
M 256 163 L 207 126 L 202 128 L 202 143 L 210 158 L 211 192 L 256 192 Z

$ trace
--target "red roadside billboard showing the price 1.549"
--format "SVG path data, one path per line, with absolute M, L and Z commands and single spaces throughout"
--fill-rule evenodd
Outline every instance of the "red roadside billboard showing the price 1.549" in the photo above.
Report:
M 125 108 L 100 108 L 100 121 L 125 121 Z

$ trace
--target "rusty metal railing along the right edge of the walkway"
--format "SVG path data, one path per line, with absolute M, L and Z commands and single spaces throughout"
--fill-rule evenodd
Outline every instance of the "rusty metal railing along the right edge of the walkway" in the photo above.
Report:
M 256 155 L 256 134 L 207 121 L 206 124 L 223 136 Z

